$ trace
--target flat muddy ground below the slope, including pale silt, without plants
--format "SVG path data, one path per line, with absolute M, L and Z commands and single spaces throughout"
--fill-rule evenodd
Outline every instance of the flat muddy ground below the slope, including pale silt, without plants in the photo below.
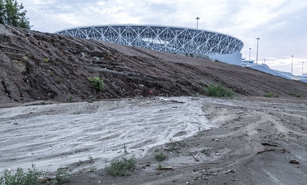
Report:
M 96 168 L 66 185 L 304 185 L 306 107 L 306 100 L 281 98 L 155 97 L 4 108 L 0 164 Z M 160 164 L 173 169 L 156 169 L 157 150 L 167 155 Z M 133 155 L 130 176 L 105 173 L 111 160 Z

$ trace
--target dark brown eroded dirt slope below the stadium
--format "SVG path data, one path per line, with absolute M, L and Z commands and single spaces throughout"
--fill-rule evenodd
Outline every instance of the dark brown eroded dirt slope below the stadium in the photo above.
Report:
M 307 95 L 306 83 L 249 68 L 6 25 L 0 63 L 0 104 L 195 95 L 212 83 L 237 96 Z M 104 79 L 103 91 L 94 93 L 94 76 Z

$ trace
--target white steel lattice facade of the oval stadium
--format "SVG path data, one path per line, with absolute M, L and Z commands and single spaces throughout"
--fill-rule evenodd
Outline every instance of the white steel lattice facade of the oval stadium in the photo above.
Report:
M 237 54 L 243 47 L 240 39 L 226 34 L 163 25 L 97 25 L 65 29 L 55 34 L 172 53 Z

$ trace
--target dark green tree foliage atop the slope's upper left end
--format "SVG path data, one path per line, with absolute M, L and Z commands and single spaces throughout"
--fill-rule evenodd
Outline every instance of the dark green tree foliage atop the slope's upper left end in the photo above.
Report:
M 0 24 L 12 25 L 21 28 L 30 28 L 29 18 L 23 5 L 17 0 L 0 0 Z

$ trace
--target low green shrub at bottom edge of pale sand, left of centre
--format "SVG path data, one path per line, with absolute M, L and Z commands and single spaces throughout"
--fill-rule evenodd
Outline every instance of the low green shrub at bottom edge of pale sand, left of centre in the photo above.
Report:
M 115 176 L 127 176 L 130 175 L 130 171 L 133 169 L 136 160 L 134 156 L 127 159 L 122 157 L 122 159 L 114 160 L 110 162 L 110 165 L 106 165 L 106 172 L 107 174 Z

